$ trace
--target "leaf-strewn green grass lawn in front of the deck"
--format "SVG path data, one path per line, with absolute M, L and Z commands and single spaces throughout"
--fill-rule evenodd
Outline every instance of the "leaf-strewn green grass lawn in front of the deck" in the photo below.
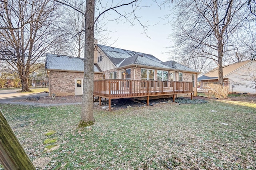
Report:
M 256 104 L 208 101 L 95 108 L 84 129 L 79 105 L 0 108 L 32 161 L 49 161 L 39 169 L 256 169 Z

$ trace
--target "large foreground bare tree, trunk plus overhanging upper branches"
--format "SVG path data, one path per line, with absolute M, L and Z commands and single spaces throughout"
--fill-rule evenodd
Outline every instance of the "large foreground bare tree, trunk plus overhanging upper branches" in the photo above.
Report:
M 120 20 L 123 18 L 125 21 L 128 21 L 133 25 L 136 21 L 142 25 L 144 31 L 146 31 L 146 25 L 141 23 L 138 17 L 135 15 L 134 11 L 138 6 L 139 0 L 130 0 L 130 2 L 124 2 L 120 0 L 119 2 L 107 1 L 106 4 L 103 4 L 101 1 L 86 0 L 86 10 L 83 12 L 80 8 L 73 6 L 72 4 L 66 1 L 54 0 L 60 4 L 69 6 L 73 10 L 80 12 L 84 15 L 85 18 L 85 40 L 84 40 L 84 87 L 83 87 L 83 96 L 82 96 L 82 113 L 79 127 L 84 127 L 94 124 L 93 116 L 93 88 L 94 88 L 94 33 L 98 32 L 98 29 L 102 25 L 100 22 L 104 19 L 106 15 L 110 15 L 111 12 L 118 14 L 117 18 L 114 18 L 114 21 Z M 97 6 L 95 6 L 97 4 Z M 130 10 L 124 7 L 130 7 Z M 122 8 L 123 7 L 123 8 Z M 95 12 L 95 9 L 97 12 Z M 120 9 L 120 11 L 118 11 Z M 125 9 L 125 10 L 124 10 Z M 97 13 L 98 16 L 94 16 Z M 100 26 L 99 26 L 100 25 Z M 94 31 L 96 28 L 96 31 Z

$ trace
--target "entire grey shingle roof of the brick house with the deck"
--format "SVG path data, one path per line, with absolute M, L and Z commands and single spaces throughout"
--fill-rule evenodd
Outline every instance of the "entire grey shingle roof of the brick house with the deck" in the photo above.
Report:
M 129 51 L 124 49 L 118 49 L 114 47 L 108 47 L 105 45 L 98 45 L 100 49 L 107 55 L 117 68 L 128 65 L 143 65 L 157 68 L 165 68 L 168 70 L 181 70 L 188 72 L 199 73 L 198 71 L 188 68 L 182 64 L 178 64 L 174 61 L 162 62 L 153 55 L 138 53 L 135 51 Z M 65 70 L 65 71 L 84 71 L 84 59 L 77 57 L 68 57 L 65 55 L 46 55 L 46 70 Z M 102 72 L 97 64 L 94 64 L 94 72 Z

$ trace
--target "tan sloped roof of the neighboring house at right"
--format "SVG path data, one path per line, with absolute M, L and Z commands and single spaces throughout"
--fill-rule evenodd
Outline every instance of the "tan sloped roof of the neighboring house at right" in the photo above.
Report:
M 230 74 L 231 72 L 237 70 L 238 68 L 244 66 L 245 64 L 249 63 L 250 60 L 239 62 L 239 63 L 234 63 L 234 64 L 228 64 L 223 66 L 223 78 Z M 210 70 L 203 76 L 200 76 L 198 80 L 209 80 L 209 79 L 218 79 L 218 67 Z

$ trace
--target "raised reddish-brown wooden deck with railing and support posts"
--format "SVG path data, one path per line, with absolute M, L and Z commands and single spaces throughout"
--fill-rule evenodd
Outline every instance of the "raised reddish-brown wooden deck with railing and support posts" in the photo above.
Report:
M 164 96 L 176 94 L 191 94 L 192 82 L 158 81 L 158 80 L 121 80 L 105 79 L 94 81 L 94 96 L 108 99 L 109 110 L 111 99 L 147 97 L 149 104 L 150 96 Z

